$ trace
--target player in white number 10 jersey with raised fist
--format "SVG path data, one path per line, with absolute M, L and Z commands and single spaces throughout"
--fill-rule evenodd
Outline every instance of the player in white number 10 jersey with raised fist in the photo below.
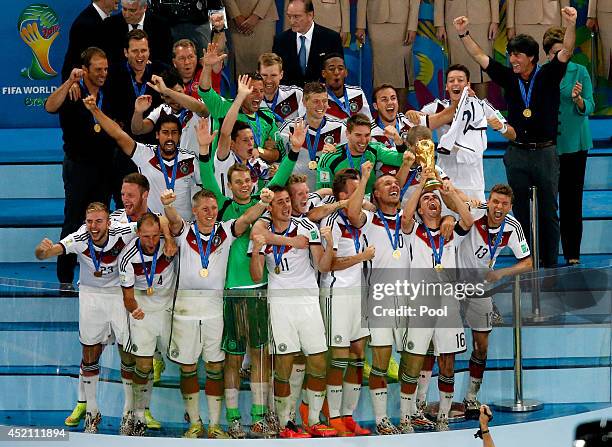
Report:
M 365 189 L 373 166 L 370 161 L 361 166 L 359 185 L 348 203 L 348 217 L 355 228 L 364 235 L 367 246 L 376 247 L 376 256 L 366 263 L 367 281 L 375 284 L 384 281 L 381 277 L 384 269 L 401 269 L 407 271 L 410 267 L 410 252 L 408 251 L 408 230 L 402 217 L 400 205 L 399 181 L 392 175 L 383 175 L 376 179 L 372 190 L 372 202 L 376 211 L 362 210 Z M 396 307 L 403 305 L 401 297 L 393 297 Z M 387 370 L 391 351 L 395 344 L 401 352 L 404 344 L 405 322 L 395 319 L 387 327 L 370 326 L 370 347 L 372 348 L 372 369 L 370 372 L 370 397 L 374 416 L 376 417 L 376 433 L 380 435 L 400 434 L 401 431 L 391 423 L 387 416 Z

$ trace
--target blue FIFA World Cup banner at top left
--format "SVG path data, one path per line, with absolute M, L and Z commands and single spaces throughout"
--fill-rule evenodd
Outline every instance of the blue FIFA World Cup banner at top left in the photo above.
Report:
M 62 83 L 68 33 L 88 0 L 3 2 L 0 128 L 57 127 L 44 102 Z

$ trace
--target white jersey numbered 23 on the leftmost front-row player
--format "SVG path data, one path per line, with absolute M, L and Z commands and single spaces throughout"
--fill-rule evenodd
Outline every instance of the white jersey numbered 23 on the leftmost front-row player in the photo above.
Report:
M 117 259 L 121 250 L 130 243 L 136 233 L 136 224 L 118 225 L 111 224 L 108 229 L 108 240 L 103 247 L 98 247 L 91 242 L 91 236 L 87 226 L 82 225 L 74 233 L 69 234 L 59 243 L 64 247 L 66 254 L 74 253 L 81 266 L 79 270 L 79 284 L 91 287 L 117 287 L 119 285 L 119 272 L 117 270 Z M 100 261 L 97 269 L 102 273 L 101 277 L 94 276 L 96 267 L 92 259 L 91 248 L 97 260 Z

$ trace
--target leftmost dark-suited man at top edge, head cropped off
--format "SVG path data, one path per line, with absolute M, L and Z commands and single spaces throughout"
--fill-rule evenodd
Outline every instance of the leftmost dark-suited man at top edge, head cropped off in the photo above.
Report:
M 74 19 L 68 36 L 68 49 L 62 67 L 62 81 L 73 68 L 81 67 L 81 53 L 89 47 L 103 47 L 102 22 L 117 10 L 119 0 L 94 0 Z

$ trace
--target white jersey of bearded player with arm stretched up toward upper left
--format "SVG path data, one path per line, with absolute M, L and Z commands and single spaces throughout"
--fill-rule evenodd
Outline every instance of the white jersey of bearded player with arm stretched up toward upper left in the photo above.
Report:
M 191 197 L 201 188 L 200 162 L 194 154 L 178 149 L 177 158 L 163 159 L 166 168 L 166 175 L 164 175 L 157 149 L 153 145 L 136 143 L 136 149 L 132 155 L 132 161 L 138 166 L 140 173 L 149 180 L 151 186 L 148 199 L 149 208 L 153 212 L 163 213 L 164 206 L 160 199 L 161 193 L 166 189 L 173 189 L 176 194 L 176 202 L 174 203 L 176 210 L 184 220 L 190 221 L 193 215 Z M 176 179 L 174 188 L 170 188 L 175 163 L 178 164 Z

